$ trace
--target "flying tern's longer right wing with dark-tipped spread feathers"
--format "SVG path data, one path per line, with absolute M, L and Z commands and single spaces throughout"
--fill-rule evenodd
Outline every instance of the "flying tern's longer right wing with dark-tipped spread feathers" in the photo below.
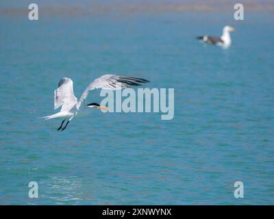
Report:
M 140 83 L 147 83 L 146 79 L 142 79 L 140 77 L 130 77 L 125 75 L 103 75 L 98 77 L 90 83 L 90 85 L 84 90 L 81 98 L 77 103 L 77 109 L 79 109 L 81 103 L 88 96 L 88 92 L 90 90 L 94 90 L 96 88 L 106 89 L 106 90 L 119 90 L 122 88 L 130 88 L 131 86 L 140 86 Z

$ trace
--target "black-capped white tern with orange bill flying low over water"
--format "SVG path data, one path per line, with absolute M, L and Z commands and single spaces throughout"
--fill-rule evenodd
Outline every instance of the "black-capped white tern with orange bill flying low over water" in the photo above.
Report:
M 140 77 L 103 75 L 92 81 L 92 83 L 90 83 L 84 90 L 80 99 L 77 100 L 73 93 L 73 80 L 69 77 L 63 77 L 58 83 L 58 88 L 54 91 L 54 110 L 61 107 L 60 112 L 51 116 L 44 116 L 40 118 L 45 118 L 45 120 L 49 120 L 51 118 L 64 118 L 60 127 L 57 129 L 57 131 L 60 129 L 62 129 L 61 131 L 64 131 L 69 122 L 77 116 L 78 112 L 83 108 L 82 103 L 86 100 L 90 90 L 95 90 L 97 88 L 105 90 L 121 90 L 132 86 L 141 86 L 140 83 L 147 82 L 149 81 Z M 98 103 L 89 103 L 86 107 L 96 107 L 97 109 L 108 110 L 108 107 L 101 106 Z M 63 127 L 65 120 L 67 120 L 67 122 Z

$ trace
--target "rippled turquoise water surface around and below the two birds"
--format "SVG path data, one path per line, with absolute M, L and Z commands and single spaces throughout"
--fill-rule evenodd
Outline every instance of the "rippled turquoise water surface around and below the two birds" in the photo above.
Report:
M 201 34 L 236 27 L 232 47 Z M 274 15 L 1 16 L 0 204 L 274 204 Z M 105 73 L 175 88 L 175 117 L 92 112 L 61 132 L 53 90 Z M 96 93 L 96 92 L 95 92 Z M 89 96 L 90 102 L 100 101 Z M 28 198 L 36 181 L 39 198 Z M 245 198 L 234 198 L 234 182 Z

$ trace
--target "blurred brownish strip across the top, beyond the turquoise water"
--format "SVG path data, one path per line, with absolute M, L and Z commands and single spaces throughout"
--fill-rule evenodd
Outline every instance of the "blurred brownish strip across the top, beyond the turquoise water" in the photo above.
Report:
M 29 1 L 1 1 L 0 14 L 1 16 L 20 16 L 24 15 L 28 10 L 27 6 Z M 105 0 L 105 1 L 65 1 L 65 0 L 49 0 L 42 1 L 37 0 L 35 3 L 42 7 L 42 13 L 44 16 L 84 16 L 89 14 L 106 13 L 106 12 L 119 12 L 119 13 L 133 13 L 133 12 L 231 12 L 234 10 L 234 4 L 238 1 L 227 0 L 149 0 L 149 1 L 137 1 L 137 0 Z M 274 1 L 262 0 L 242 0 L 245 10 L 248 11 L 274 11 Z

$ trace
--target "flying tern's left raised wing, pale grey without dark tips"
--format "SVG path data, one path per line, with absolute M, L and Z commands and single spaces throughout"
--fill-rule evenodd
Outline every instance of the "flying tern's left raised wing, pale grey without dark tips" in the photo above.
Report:
M 54 91 L 54 110 L 62 106 L 62 111 L 69 111 L 77 103 L 77 98 L 73 93 L 73 81 L 68 77 L 63 77 L 58 88 Z

